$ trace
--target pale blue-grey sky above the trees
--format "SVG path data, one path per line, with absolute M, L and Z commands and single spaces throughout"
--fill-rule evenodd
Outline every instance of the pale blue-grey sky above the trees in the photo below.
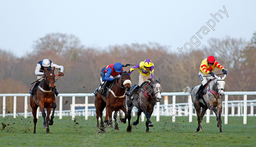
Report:
M 219 12 L 224 11 L 226 14 Z M 0 48 L 22 57 L 32 52 L 34 41 L 48 33 L 75 35 L 85 47 L 159 43 L 178 52 L 196 32 L 219 13 L 215 31 L 200 40 L 244 38 L 256 30 L 256 1 L 5 1 L 0 0 Z M 211 23 L 210 23 L 211 24 Z M 212 23 L 213 24 L 213 23 Z M 196 48 L 196 46 L 193 46 Z

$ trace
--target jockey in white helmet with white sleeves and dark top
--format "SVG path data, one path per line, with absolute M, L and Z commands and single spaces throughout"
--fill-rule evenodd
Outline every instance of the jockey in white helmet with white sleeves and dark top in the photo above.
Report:
M 41 60 L 37 63 L 37 67 L 36 67 L 36 70 L 35 70 L 35 74 L 37 75 L 37 79 L 40 79 L 38 80 L 37 82 L 35 82 L 33 88 L 30 90 L 30 95 L 33 97 L 34 96 L 34 89 L 37 87 L 37 85 L 43 80 L 43 76 L 44 76 L 44 67 L 45 68 L 56 68 L 56 69 L 60 69 L 60 72 L 59 72 L 59 76 L 63 76 L 63 71 L 64 71 L 64 68 L 63 66 L 61 65 L 57 65 L 57 64 L 54 64 L 52 63 L 51 60 L 48 60 L 48 59 L 44 59 L 44 60 Z M 55 95 L 58 96 L 59 92 L 58 90 L 56 89 L 55 87 Z

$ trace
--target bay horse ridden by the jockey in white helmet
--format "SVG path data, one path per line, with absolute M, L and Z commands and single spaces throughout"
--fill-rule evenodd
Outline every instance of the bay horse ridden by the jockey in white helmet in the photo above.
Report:
M 44 79 L 38 84 L 38 89 L 36 89 L 36 93 L 34 96 L 37 98 L 37 102 L 33 99 L 32 96 L 30 96 L 30 106 L 32 108 L 32 115 L 34 116 L 34 132 L 36 133 L 36 124 L 37 124 L 37 107 L 39 106 L 42 117 L 44 119 L 44 126 L 43 128 L 46 128 L 46 134 L 50 134 L 49 132 L 49 125 L 53 124 L 53 118 L 54 118 L 54 111 L 57 107 L 56 100 L 55 100 L 55 74 L 54 74 L 55 67 L 53 69 L 51 68 L 45 68 L 44 71 L 45 77 Z M 33 85 L 31 86 L 31 88 Z M 44 108 L 47 110 L 47 116 L 44 111 Z M 53 110 L 52 110 L 53 109 Z M 52 115 L 50 119 L 50 113 L 52 110 Z M 46 119 L 45 119 L 46 117 Z

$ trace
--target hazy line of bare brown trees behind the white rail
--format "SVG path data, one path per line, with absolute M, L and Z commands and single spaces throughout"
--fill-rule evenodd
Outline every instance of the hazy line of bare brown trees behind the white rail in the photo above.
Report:
M 192 49 L 187 55 L 179 57 L 181 59 L 176 65 L 166 69 L 167 74 L 158 68 L 164 63 L 163 59 L 174 56 L 167 46 L 157 43 L 124 44 L 102 49 L 85 47 L 74 35 L 51 33 L 35 41 L 31 53 L 20 58 L 0 48 L 0 93 L 28 93 L 30 83 L 37 80 L 34 73 L 37 62 L 44 58 L 64 67 L 64 76 L 55 83 L 59 93 L 92 93 L 99 86 L 101 68 L 116 62 L 135 65 L 146 58 L 150 58 L 155 65 L 154 73 L 161 79 L 162 92 L 182 92 L 186 85 L 193 87 L 201 84 L 199 67 L 201 61 L 209 55 L 215 56 L 216 61 L 228 71 L 226 91 L 255 91 L 255 32 L 250 41 L 229 36 L 211 38 L 207 47 Z M 124 70 L 128 71 L 130 67 L 124 67 Z M 222 72 L 215 69 L 214 73 Z M 138 76 L 138 71 L 131 74 L 132 85 L 138 83 Z M 89 103 L 93 103 L 93 99 L 89 99 Z M 229 99 L 237 100 L 240 97 Z M 179 101 L 187 102 L 184 97 L 178 98 Z M 11 108 L 11 99 L 9 103 Z M 24 108 L 21 106 L 20 109 Z

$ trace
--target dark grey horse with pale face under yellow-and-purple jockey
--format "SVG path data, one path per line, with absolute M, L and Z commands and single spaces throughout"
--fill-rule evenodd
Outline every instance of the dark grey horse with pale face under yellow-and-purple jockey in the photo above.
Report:
M 147 118 L 146 132 L 149 131 L 149 127 L 154 126 L 150 120 L 150 117 L 153 113 L 155 103 L 160 102 L 162 99 L 162 96 L 161 96 L 162 86 L 160 85 L 160 82 L 161 82 L 160 78 L 156 81 L 151 78 L 150 82 L 148 81 L 143 82 L 140 85 L 140 89 L 135 90 L 133 95 L 130 95 L 129 97 L 127 97 L 126 99 L 127 109 L 128 109 L 128 126 L 126 129 L 127 132 L 131 132 L 130 120 L 132 117 L 131 112 L 132 112 L 133 106 L 135 106 L 138 109 L 137 120 L 136 122 L 133 122 L 133 125 L 137 125 L 139 123 L 140 114 L 141 112 L 143 112 Z M 133 97 L 133 99 L 131 99 L 131 97 Z

